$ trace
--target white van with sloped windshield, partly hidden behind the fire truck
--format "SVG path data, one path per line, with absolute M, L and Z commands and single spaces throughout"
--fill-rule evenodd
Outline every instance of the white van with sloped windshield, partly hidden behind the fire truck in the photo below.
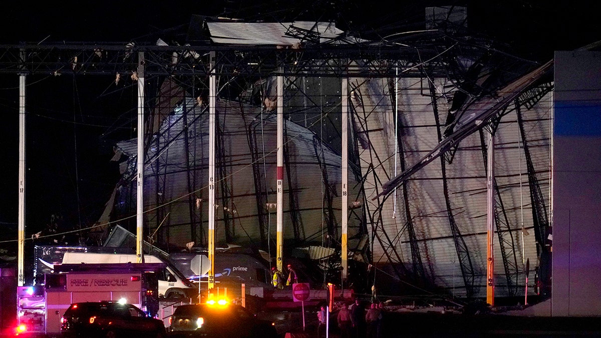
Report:
M 66 252 L 63 264 L 79 263 L 135 263 L 135 254 Z M 171 262 L 157 256 L 144 255 L 144 263 L 165 263 L 159 274 L 159 297 L 197 298 L 198 287 L 192 284 Z

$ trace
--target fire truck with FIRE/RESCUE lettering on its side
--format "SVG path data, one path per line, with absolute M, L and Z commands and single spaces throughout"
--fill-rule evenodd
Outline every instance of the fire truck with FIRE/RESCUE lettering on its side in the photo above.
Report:
M 158 275 L 164 263 L 61 264 L 44 284 L 18 287 L 17 323 L 22 336 L 58 336 L 72 303 L 122 301 L 150 316 L 159 310 Z

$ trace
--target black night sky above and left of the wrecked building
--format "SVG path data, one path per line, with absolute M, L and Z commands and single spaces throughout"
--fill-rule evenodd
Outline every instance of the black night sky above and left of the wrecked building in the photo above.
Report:
M 429 5 L 466 5 L 468 26 L 510 46 L 513 54 L 546 61 L 555 50 L 571 50 L 601 40 L 594 11 L 578 1 L 403 1 L 374 5 L 353 1 L 172 1 L 61 2 L 10 1 L 2 4 L 0 45 L 26 41 L 130 41 L 188 25 L 192 14 L 275 20 L 334 20 L 344 31 L 377 37 L 386 31 L 419 27 Z M 383 2 L 385 3 L 385 2 Z M 485 5 L 486 3 L 486 5 Z M 118 4 L 107 5 L 107 4 Z M 304 6 L 304 7 L 302 7 Z M 550 7 L 551 6 L 551 7 Z M 35 75 L 27 78 L 26 237 L 61 215 L 64 229 L 97 220 L 119 178 L 110 162 L 112 146 L 136 137 L 135 87 L 112 78 Z M 0 75 L 0 240 L 16 239 L 18 179 L 17 75 Z M 14 242 L 1 248 L 15 250 Z

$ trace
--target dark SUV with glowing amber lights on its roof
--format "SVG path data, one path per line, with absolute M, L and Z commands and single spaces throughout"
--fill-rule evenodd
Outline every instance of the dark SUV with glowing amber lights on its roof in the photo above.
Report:
M 169 318 L 168 335 L 170 338 L 278 337 L 272 322 L 258 319 L 242 306 L 221 301 L 178 306 Z

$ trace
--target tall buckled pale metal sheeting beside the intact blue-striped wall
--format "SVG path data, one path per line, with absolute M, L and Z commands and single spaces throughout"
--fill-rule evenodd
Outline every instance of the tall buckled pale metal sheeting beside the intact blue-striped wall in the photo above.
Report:
M 423 90 L 430 81 L 439 90 L 436 105 L 433 105 L 430 93 Z M 409 273 L 415 274 L 417 271 L 413 269 L 419 263 L 423 265 L 425 278 L 455 297 L 465 297 L 470 292 L 473 293 L 469 296 L 486 296 L 487 185 L 486 158 L 483 155 L 486 149 L 483 152 L 485 145 L 478 132 L 462 140 L 452 162 L 441 158 L 441 161 L 445 161 L 442 167 L 441 161 L 431 161 L 408 177 L 404 186 L 392 187 L 389 198 L 376 198 L 381 194 L 379 181 L 394 177 L 395 172 L 401 171 L 404 166 L 418 164 L 424 154 L 438 146 L 442 132 L 437 129 L 442 130 L 444 126 L 440 121 L 444 121 L 450 110 L 450 102 L 445 98 L 448 93 L 442 89 L 448 87 L 448 79 L 398 79 L 396 95 L 394 88 L 388 87 L 389 82 L 386 81 L 353 79 L 352 83 L 353 106 L 359 116 L 366 117 L 365 123 L 357 124 L 361 128 L 359 133 L 368 134 L 370 140 L 362 149 L 361 167 L 367 177 L 364 186 L 370 220 L 368 229 L 372 229 L 374 264 L 387 271 L 391 271 L 390 263 L 400 264 Z M 390 97 L 397 97 L 397 107 Z M 517 266 L 508 268 L 510 274 L 517 276 L 514 276 L 512 284 L 525 283 L 523 262 L 528 258 L 535 261 L 537 257 L 534 236 L 521 236 L 522 230 L 532 233 L 534 223 L 523 143 L 530 145 L 532 163 L 540 175 L 538 186 L 545 196 L 546 206 L 549 206 L 551 106 L 551 95 L 547 94 L 532 108 L 522 108 L 522 128 L 526 131 L 527 140 L 521 139 L 514 107 L 508 109 L 512 112 L 501 118 L 496 129 L 496 198 L 502 201 L 502 212 L 508 223 L 501 235 L 511 235 L 511 247 L 505 244 L 504 250 L 514 250 L 514 260 L 517 260 Z M 398 113 L 396 119 L 395 113 Z M 395 134 L 395 121 L 398 123 L 398 134 Z M 398 135 L 398 140 L 395 140 L 395 135 Z M 397 142 L 402 153 L 395 156 Z M 462 271 L 460 266 L 462 257 L 458 257 L 451 229 L 454 225 L 465 242 L 465 254 L 471 260 L 471 271 Z M 410 238 L 409 227 L 415 232 L 413 239 Z M 383 234 L 394 236 L 394 241 L 380 238 Z M 391 242 L 392 248 L 389 246 Z M 412 242 L 418 248 L 417 257 L 421 262 L 413 262 L 416 256 L 412 257 Z M 394 261 L 392 251 L 401 258 L 400 262 Z M 503 250 L 498 240 L 495 240 L 495 251 L 495 293 L 499 297 L 510 296 L 505 278 L 507 271 L 501 256 Z M 465 285 L 462 275 L 466 273 L 471 274 L 469 286 Z

